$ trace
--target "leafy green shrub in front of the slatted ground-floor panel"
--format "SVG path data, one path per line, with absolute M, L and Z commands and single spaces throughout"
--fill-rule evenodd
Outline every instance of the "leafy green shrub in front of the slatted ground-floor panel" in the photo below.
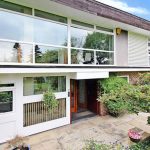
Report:
M 55 94 L 51 89 L 49 89 L 47 92 L 44 92 L 43 94 L 43 101 L 45 107 L 51 111 L 53 108 L 58 106 L 58 100 L 55 97 Z

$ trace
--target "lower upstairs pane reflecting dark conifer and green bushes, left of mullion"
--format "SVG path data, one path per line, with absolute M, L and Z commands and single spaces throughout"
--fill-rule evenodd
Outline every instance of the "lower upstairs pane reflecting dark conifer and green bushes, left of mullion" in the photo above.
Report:
M 67 49 L 49 46 L 35 46 L 35 62 L 36 63 L 68 63 Z

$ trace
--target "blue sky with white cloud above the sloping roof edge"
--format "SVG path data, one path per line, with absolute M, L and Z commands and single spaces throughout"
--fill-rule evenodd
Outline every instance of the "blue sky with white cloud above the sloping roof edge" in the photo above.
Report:
M 150 21 L 150 0 L 96 0 Z

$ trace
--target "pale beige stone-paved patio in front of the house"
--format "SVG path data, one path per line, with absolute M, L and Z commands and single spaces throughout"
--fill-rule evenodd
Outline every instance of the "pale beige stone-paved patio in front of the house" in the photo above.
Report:
M 106 143 L 117 140 L 128 145 L 129 129 L 138 127 L 150 134 L 150 126 L 146 125 L 148 115 L 140 113 L 138 116 L 124 115 L 119 118 L 95 116 L 82 119 L 71 125 L 29 136 L 28 143 L 31 150 L 80 150 L 89 139 Z M 0 145 L 0 150 L 5 147 L 6 144 Z

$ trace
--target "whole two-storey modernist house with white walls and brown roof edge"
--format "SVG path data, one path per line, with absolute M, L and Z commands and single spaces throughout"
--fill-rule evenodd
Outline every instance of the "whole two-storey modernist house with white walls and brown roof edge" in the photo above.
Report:
M 0 142 L 100 114 L 97 80 L 150 71 L 150 22 L 94 0 L 0 0 Z M 59 105 L 47 113 L 49 87 Z

